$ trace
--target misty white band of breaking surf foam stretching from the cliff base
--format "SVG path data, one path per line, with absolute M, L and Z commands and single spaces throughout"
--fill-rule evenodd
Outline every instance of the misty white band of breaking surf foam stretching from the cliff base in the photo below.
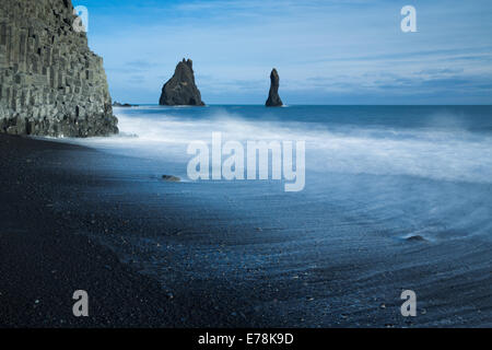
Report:
M 220 131 L 224 142 L 305 140 L 307 172 L 492 183 L 492 137 L 464 131 L 459 118 L 452 115 L 431 116 L 429 128 L 391 129 L 253 120 L 225 109 L 195 119 L 177 117 L 176 109 L 173 114 L 165 108 L 156 114 L 155 109 L 159 107 L 140 107 L 131 114 L 119 110 L 120 136 L 77 142 L 119 154 L 183 162 L 186 168 L 187 144 L 210 142 L 212 132 Z M 435 128 L 445 122 L 452 127 Z

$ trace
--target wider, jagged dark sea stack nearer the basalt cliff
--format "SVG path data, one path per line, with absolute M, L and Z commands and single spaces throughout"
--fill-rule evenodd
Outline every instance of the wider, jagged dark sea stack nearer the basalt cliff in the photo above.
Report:
M 162 88 L 160 105 L 204 106 L 201 94 L 195 84 L 194 62 L 188 59 L 176 66 L 173 78 Z

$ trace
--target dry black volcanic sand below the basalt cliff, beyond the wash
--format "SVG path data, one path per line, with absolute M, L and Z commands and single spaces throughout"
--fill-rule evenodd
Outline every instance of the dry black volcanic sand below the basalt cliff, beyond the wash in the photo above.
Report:
M 108 184 L 67 171 L 67 155 L 81 167 L 104 162 L 81 147 L 0 135 L 0 327 L 230 325 L 186 299 L 175 302 L 108 248 L 73 234 L 85 219 L 56 212 L 54 198 L 77 202 L 80 188 Z M 90 317 L 73 316 L 75 290 L 89 292 Z

